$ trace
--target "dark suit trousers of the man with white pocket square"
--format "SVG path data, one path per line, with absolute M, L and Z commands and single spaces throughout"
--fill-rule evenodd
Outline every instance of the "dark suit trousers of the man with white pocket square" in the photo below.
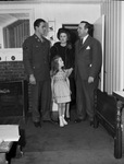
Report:
M 98 78 L 94 83 L 88 83 L 88 80 L 82 80 L 79 75 L 76 78 L 76 112 L 79 119 L 86 116 L 89 119 L 94 118 L 94 96 L 95 90 L 98 87 Z

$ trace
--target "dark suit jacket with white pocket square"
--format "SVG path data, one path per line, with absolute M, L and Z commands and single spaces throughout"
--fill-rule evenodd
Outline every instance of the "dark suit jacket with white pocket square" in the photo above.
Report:
M 78 39 L 75 44 L 75 78 L 77 74 L 82 80 L 88 77 L 96 78 L 100 73 L 102 51 L 100 43 L 88 36 L 84 44 Z

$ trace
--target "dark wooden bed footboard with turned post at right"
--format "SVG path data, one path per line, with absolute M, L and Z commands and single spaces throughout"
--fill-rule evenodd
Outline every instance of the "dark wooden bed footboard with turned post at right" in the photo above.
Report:
M 124 92 L 108 95 L 97 90 L 95 97 L 95 127 L 101 124 L 113 137 L 114 157 L 121 159 L 124 154 Z

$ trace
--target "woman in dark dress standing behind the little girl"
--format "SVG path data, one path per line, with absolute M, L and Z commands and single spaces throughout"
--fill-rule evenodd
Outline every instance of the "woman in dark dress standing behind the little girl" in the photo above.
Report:
M 65 28 L 59 28 L 58 38 L 60 42 L 57 42 L 50 49 L 50 59 L 54 56 L 60 56 L 64 61 L 65 69 L 74 68 L 74 48 L 70 42 L 70 33 Z M 74 82 L 74 72 L 70 75 L 70 85 L 72 91 L 72 102 L 75 101 L 75 82 Z M 70 104 L 66 105 L 66 120 L 70 120 Z

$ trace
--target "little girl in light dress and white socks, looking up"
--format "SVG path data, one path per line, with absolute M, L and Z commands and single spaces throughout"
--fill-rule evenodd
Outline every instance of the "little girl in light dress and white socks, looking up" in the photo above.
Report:
M 51 62 L 51 89 L 52 101 L 58 104 L 60 127 L 67 125 L 64 119 L 65 105 L 71 102 L 71 90 L 69 75 L 72 73 L 73 68 L 63 69 L 64 63 L 60 56 L 55 56 Z

